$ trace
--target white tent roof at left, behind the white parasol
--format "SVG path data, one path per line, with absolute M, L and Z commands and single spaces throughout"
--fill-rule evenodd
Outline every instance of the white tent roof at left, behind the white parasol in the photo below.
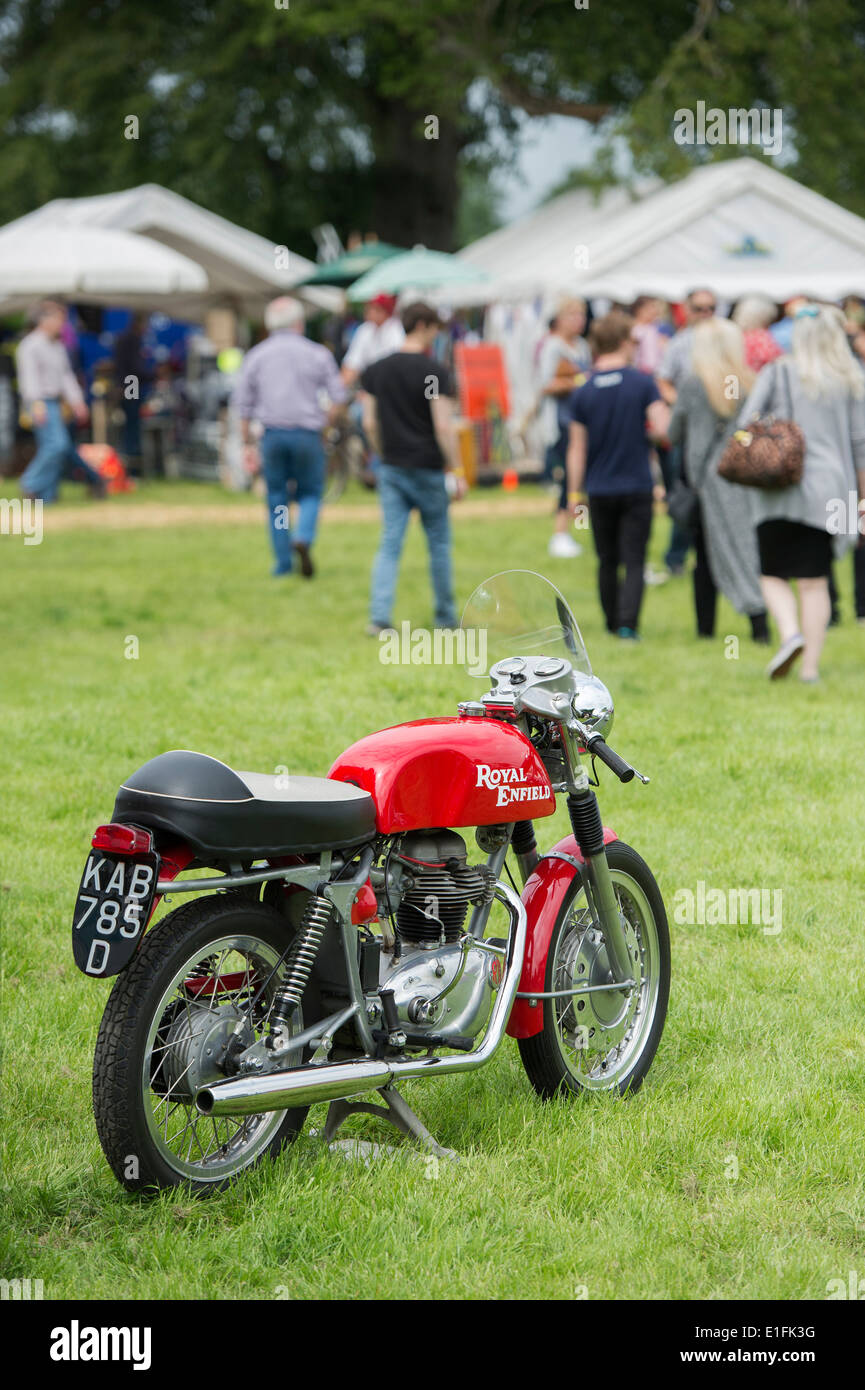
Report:
M 217 307 L 257 314 L 268 299 L 288 293 L 316 268 L 305 256 L 288 252 L 217 213 L 209 213 L 159 183 L 142 183 L 140 188 L 96 197 L 54 199 L 10 222 L 0 231 L 0 238 L 13 229 L 36 229 L 42 224 L 57 222 L 71 228 L 104 227 L 135 232 L 196 261 L 207 275 L 206 288 L 178 293 L 170 304 L 154 306 L 164 307 L 177 318 L 200 321 L 207 310 Z M 332 311 L 342 304 L 339 291 L 323 286 L 305 288 L 298 295 Z M 114 303 L 127 300 L 120 296 Z

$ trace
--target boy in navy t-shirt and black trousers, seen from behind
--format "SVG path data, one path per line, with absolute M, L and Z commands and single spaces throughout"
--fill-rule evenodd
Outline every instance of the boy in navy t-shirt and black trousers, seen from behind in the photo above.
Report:
M 636 639 L 652 527 L 649 436 L 663 438 L 669 407 L 654 379 L 630 366 L 631 327 L 619 310 L 592 324 L 592 373 L 569 400 L 567 488 L 572 506 L 588 496 L 606 628 Z

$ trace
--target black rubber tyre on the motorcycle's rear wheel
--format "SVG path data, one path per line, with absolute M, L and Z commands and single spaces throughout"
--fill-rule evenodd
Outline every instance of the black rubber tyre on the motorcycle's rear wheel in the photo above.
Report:
M 206 1170 L 207 1154 L 202 1147 L 200 1137 L 197 1143 L 202 1163 L 167 1152 L 170 1148 L 168 1119 L 165 1119 L 165 1143 L 163 1144 L 161 1133 L 159 1138 L 154 1136 L 154 1123 L 161 1131 L 161 1116 L 156 1120 L 153 1111 L 159 1112 L 160 1105 L 164 1105 L 165 1111 L 168 1109 L 171 1088 L 175 1086 L 174 1080 L 167 1080 L 167 1073 L 163 1073 L 160 1079 L 161 1063 L 156 1063 L 156 1054 L 161 1052 L 163 1062 L 167 1061 L 171 1065 L 186 1044 L 188 1051 L 184 1058 L 192 1055 L 193 1047 L 189 1036 L 186 1038 L 182 1036 L 185 1026 L 182 1015 L 185 1011 L 186 1016 L 200 1020 L 204 1008 L 199 1002 L 199 995 L 192 999 L 191 1006 L 178 1004 L 163 1008 L 165 991 L 170 990 L 185 963 L 193 962 L 196 958 L 206 958 L 207 947 L 224 940 L 259 942 L 263 948 L 261 959 L 273 966 L 291 940 L 291 927 L 274 908 L 243 897 L 241 892 L 196 898 L 163 917 L 153 927 L 128 969 L 117 977 L 108 995 L 93 1056 L 93 1115 L 103 1152 L 115 1177 L 128 1191 L 153 1193 L 179 1186 L 199 1193 L 221 1191 L 241 1172 L 252 1168 L 264 1156 L 274 1158 L 303 1129 L 309 1106 L 246 1116 L 245 1119 L 235 1118 L 232 1122 L 238 1126 L 235 1141 L 242 1140 L 245 1127 L 249 1133 L 249 1156 L 243 1159 L 242 1151 L 238 1152 L 236 1170 L 229 1170 L 228 1152 L 223 1165 L 224 1170 L 220 1169 L 221 1150 L 217 1150 L 211 1159 L 211 1165 L 217 1166 L 210 1166 Z M 217 965 L 216 969 L 220 967 Z M 273 987 L 271 984 L 267 998 L 271 997 Z M 216 988 L 210 998 L 211 1008 L 216 1009 Z M 216 1011 L 214 1022 L 223 1017 L 229 1019 L 231 1004 L 227 1002 L 221 1008 L 224 1013 L 220 1015 Z M 161 1017 L 156 1020 L 156 1038 L 149 1042 L 157 1011 L 160 1011 Z M 210 1024 L 207 1023 L 207 1026 Z M 227 1026 L 228 1023 L 225 1023 Z M 174 1042 L 161 1041 L 171 1038 L 171 1029 L 178 1029 L 178 1047 Z M 203 1048 L 203 1044 L 197 1044 L 195 1037 L 193 1041 L 199 1049 Z M 156 1047 L 154 1042 L 157 1042 Z M 145 1087 L 145 1065 L 147 1066 L 149 1095 Z M 175 1066 L 179 1066 L 179 1062 L 175 1062 Z M 216 1073 L 214 1077 L 221 1079 Z M 163 1099 L 159 1099 L 160 1087 Z M 157 1099 L 152 1099 L 153 1097 Z M 197 1115 L 193 1105 L 174 1102 L 174 1109 L 178 1108 L 185 1113 Z M 184 1115 L 178 1119 L 182 1122 Z M 267 1123 L 250 1126 L 250 1120 Z M 192 1119 L 188 1123 L 192 1125 Z M 202 1116 L 200 1123 L 207 1126 L 209 1120 Z M 229 1123 L 224 1129 L 227 1138 L 231 1127 Z M 207 1143 L 216 1141 L 218 1144 L 218 1125 L 213 1126 L 213 1134 L 214 1140 L 207 1136 Z M 200 1172 L 196 1172 L 197 1168 Z

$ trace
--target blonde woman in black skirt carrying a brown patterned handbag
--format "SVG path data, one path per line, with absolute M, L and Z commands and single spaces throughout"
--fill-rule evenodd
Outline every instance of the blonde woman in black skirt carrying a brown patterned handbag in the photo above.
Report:
M 801 678 L 818 680 L 829 626 L 829 569 L 858 535 L 865 496 L 865 378 L 830 304 L 805 304 L 793 322 L 793 353 L 761 371 L 740 416 L 793 418 L 805 436 L 805 467 L 794 488 L 754 488 L 762 591 L 782 645 L 768 666 L 786 676 L 801 656 Z M 791 580 L 798 587 L 797 595 Z

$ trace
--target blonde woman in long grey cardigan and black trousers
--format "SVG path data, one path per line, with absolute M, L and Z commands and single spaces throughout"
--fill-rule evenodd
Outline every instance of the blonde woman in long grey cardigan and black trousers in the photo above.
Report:
M 751 503 L 745 488 L 718 474 L 718 461 L 752 381 L 741 329 L 727 318 L 697 324 L 691 373 L 676 398 L 670 442 L 683 443 L 686 481 L 698 498 L 693 521 L 697 635 L 715 635 L 720 589 L 734 609 L 747 613 L 754 641 L 768 642 Z

